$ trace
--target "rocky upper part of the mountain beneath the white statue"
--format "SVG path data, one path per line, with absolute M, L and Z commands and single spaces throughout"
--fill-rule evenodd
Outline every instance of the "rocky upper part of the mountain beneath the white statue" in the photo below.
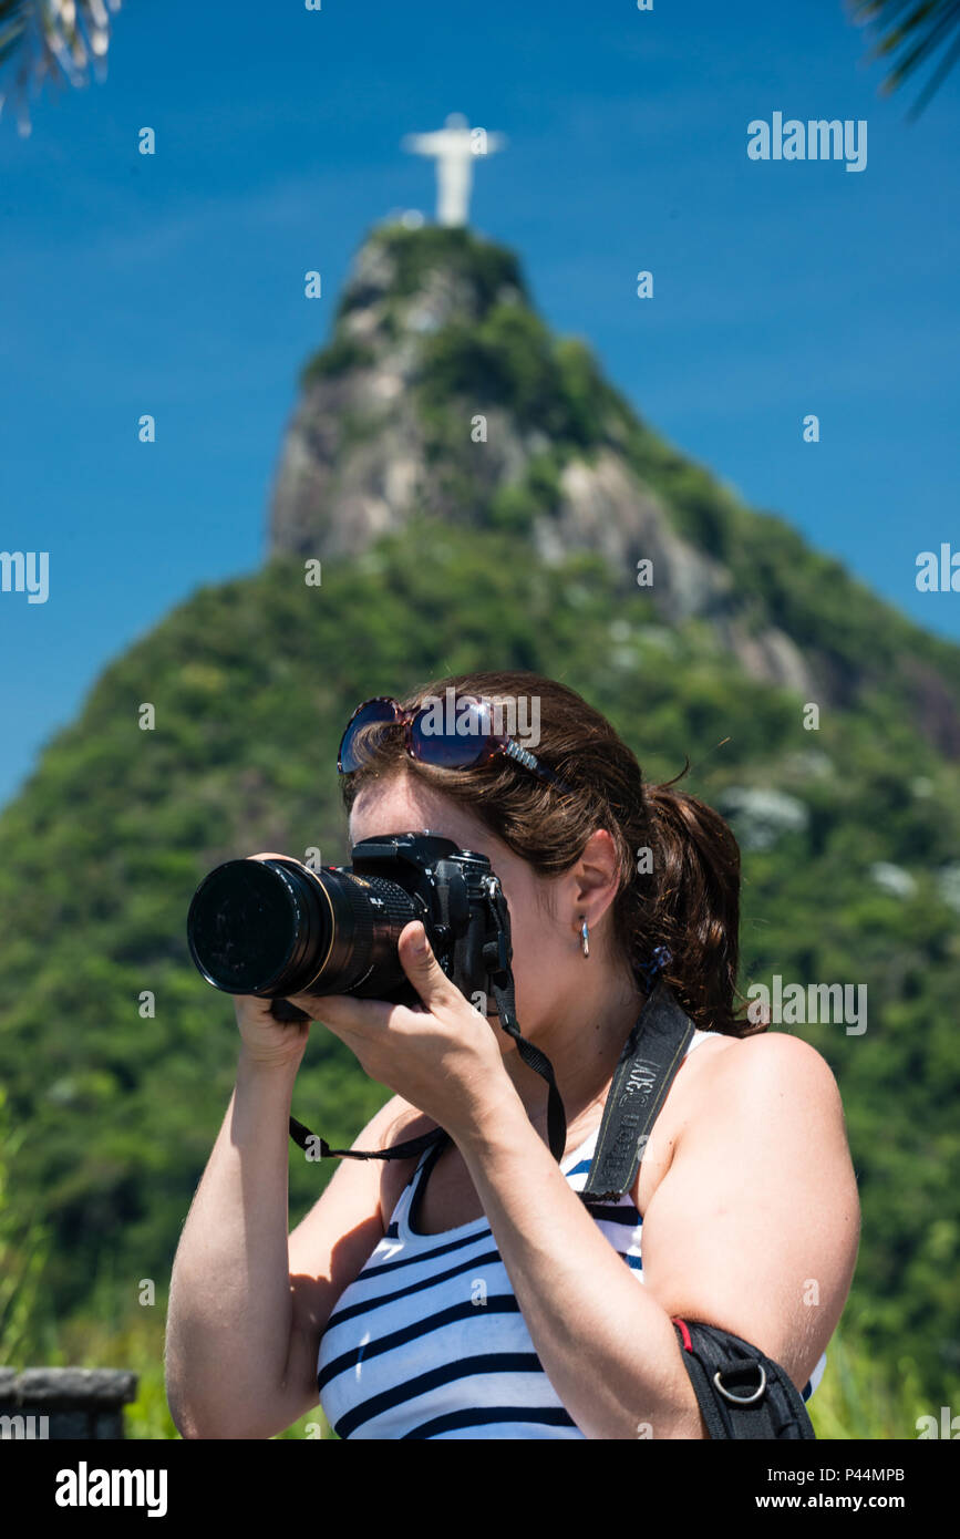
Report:
M 511 251 L 391 222 L 303 369 L 269 554 L 355 557 L 420 519 L 505 531 L 517 560 L 600 556 L 638 623 L 705 625 L 749 677 L 805 702 L 848 706 L 892 682 L 960 756 L 955 648 L 665 443 L 583 342 L 545 325 Z M 866 660 L 862 633 L 883 637 Z

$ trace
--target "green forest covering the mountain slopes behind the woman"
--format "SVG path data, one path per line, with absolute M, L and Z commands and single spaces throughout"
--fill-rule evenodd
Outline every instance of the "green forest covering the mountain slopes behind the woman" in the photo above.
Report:
M 463 517 L 412 516 L 325 557 L 318 586 L 275 554 L 202 588 L 103 673 L 0 813 L 0 1356 L 117 1353 L 146 1371 L 137 1428 L 169 1433 L 162 1304 L 238 1050 L 229 997 L 189 962 L 191 896 L 258 850 L 349 859 L 335 753 L 362 699 L 529 668 L 605 711 L 648 779 L 689 757 L 686 785 L 731 817 L 745 991 L 775 974 L 866 986 L 866 1031 L 788 1027 L 838 1077 L 863 1202 L 814 1420 L 825 1436 L 915 1436 L 917 1414 L 960 1394 L 960 651 L 665 445 L 583 343 L 535 317 L 509 252 L 457 231 L 369 245 L 308 383 L 343 392 L 337 452 L 375 451 L 389 402 L 351 394 L 354 376 L 383 339 L 408 339 L 411 306 L 429 311 L 428 280 L 463 291 L 411 345 L 405 400 Z M 363 336 L 351 317 L 369 320 Z M 488 408 L 528 451 L 483 483 L 465 425 Z M 709 606 L 665 623 L 655 589 L 600 554 L 537 554 L 528 536 L 557 511 L 565 466 L 602 451 L 729 576 L 738 622 L 777 626 L 820 669 L 817 728 L 809 702 L 718 643 Z M 314 1028 L 297 1116 L 345 1143 L 386 1096 Z M 291 1145 L 291 1222 L 329 1173 Z

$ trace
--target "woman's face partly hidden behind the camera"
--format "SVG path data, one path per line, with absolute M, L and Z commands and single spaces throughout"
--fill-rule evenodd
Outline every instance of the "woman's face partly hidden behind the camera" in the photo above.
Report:
M 568 1008 L 571 1002 L 574 963 L 580 957 L 575 914 L 571 900 L 565 899 L 571 880 L 538 877 L 466 808 L 412 776 L 398 774 L 365 786 L 351 811 L 352 843 L 383 834 L 428 831 L 452 839 L 462 850 L 485 854 L 500 877 L 511 916 L 517 1019 L 523 1036 L 535 1039 L 545 1025 L 555 1022 L 565 1002 Z M 551 899 L 555 914 L 548 906 Z M 565 906 L 571 908 L 569 914 Z M 494 1014 L 495 1008 L 491 997 L 488 1011 Z M 505 1031 L 497 1036 L 502 1051 L 514 1051 Z

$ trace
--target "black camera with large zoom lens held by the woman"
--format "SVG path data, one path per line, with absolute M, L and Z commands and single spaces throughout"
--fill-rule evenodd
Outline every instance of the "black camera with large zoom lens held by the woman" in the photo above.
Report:
M 382 834 L 351 851 L 349 866 L 228 860 L 194 894 L 188 943 L 198 971 L 231 994 L 355 994 L 415 1003 L 397 954 L 405 925 L 422 920 L 448 977 L 482 1010 L 491 974 L 511 963 L 509 913 L 486 856 L 431 833 Z M 282 1020 L 303 1020 L 274 1005 Z

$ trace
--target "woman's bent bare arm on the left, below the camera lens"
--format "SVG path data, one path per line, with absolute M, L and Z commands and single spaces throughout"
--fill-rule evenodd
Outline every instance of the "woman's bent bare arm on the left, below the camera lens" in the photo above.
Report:
M 383 1237 L 380 1163 L 346 1159 L 288 1240 L 295 1073 L 242 1053 L 180 1237 L 166 1384 L 183 1437 L 274 1437 L 309 1411 L 326 1320 Z M 382 1147 L 395 1117 L 388 1102 L 352 1147 Z

